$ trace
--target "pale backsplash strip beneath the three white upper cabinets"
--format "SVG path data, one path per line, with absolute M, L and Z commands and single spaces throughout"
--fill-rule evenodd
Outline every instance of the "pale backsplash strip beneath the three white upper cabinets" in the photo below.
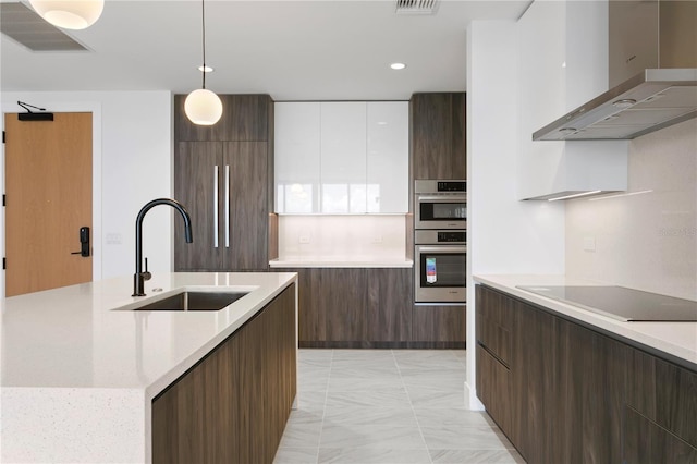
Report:
M 280 216 L 281 260 L 403 260 L 405 217 L 401 215 Z

